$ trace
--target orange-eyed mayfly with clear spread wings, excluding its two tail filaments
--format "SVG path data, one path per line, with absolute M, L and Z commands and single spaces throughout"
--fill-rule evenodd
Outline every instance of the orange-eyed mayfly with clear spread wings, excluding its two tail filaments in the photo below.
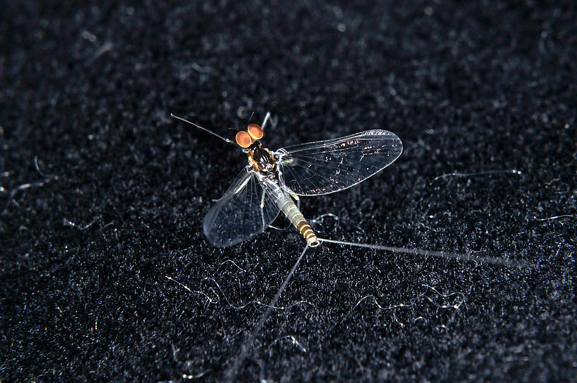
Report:
M 204 218 L 204 234 L 216 247 L 232 246 L 264 232 L 281 211 L 308 246 L 317 246 L 315 231 L 295 203 L 298 196 L 320 196 L 353 187 L 402 153 L 399 137 L 382 129 L 271 151 L 260 142 L 268 119 L 269 114 L 262 126 L 250 124 L 235 136 L 248 163 Z

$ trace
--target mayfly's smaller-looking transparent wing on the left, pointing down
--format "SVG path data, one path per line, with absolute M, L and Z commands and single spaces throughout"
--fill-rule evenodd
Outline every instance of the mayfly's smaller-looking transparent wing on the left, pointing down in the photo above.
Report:
M 232 246 L 263 232 L 278 214 L 257 173 L 246 168 L 206 213 L 204 234 L 216 247 Z

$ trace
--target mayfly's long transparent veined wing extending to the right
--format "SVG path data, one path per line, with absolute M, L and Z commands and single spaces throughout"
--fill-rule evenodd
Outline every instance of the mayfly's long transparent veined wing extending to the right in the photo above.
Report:
M 402 142 L 390 131 L 368 130 L 276 151 L 279 181 L 299 196 L 339 192 L 363 182 L 393 163 Z

